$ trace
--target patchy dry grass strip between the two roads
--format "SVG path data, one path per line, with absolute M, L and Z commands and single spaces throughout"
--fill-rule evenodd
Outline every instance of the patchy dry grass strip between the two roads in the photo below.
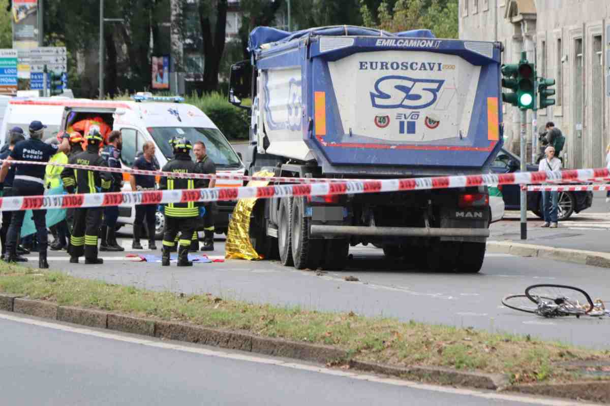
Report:
M 394 366 L 443 366 L 503 373 L 512 383 L 574 382 L 581 373 L 558 363 L 608 360 L 594 351 L 529 336 L 472 328 L 278 307 L 206 295 L 151 292 L 0 262 L 0 292 L 23 293 L 61 306 L 107 310 L 336 346 L 356 360 Z

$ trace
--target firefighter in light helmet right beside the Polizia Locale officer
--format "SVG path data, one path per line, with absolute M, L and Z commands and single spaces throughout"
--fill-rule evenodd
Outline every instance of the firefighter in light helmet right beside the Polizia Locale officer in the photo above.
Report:
M 99 127 L 91 125 L 85 136 L 87 150 L 71 155 L 68 163 L 91 166 L 106 166 L 99 156 L 99 145 L 103 142 Z M 99 172 L 88 169 L 66 168 L 62 171 L 62 180 L 68 192 L 98 193 L 108 192 L 112 187 L 110 172 Z M 76 185 L 76 187 L 74 186 Z M 74 212 L 74 225 L 70 237 L 70 263 L 78 264 L 79 256 L 85 255 L 85 264 L 103 264 L 98 258 L 98 229 L 102 222 L 104 209 L 101 207 L 77 208 Z

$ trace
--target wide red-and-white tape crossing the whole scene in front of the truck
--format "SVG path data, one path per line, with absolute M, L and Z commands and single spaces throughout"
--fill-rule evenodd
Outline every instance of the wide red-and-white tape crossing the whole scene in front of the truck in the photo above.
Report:
M 573 181 L 605 178 L 608 169 L 575 169 L 562 172 L 517 172 L 487 175 L 358 180 L 338 183 L 281 184 L 276 186 L 215 187 L 171 191 L 112 192 L 74 195 L 16 196 L 0 200 L 0 210 L 90 208 L 119 205 L 159 205 L 239 200 L 243 198 L 306 197 L 362 193 L 423 191 L 454 187 L 476 187 L 504 184 L 532 184 L 550 180 Z M 268 179 L 268 178 L 267 178 Z

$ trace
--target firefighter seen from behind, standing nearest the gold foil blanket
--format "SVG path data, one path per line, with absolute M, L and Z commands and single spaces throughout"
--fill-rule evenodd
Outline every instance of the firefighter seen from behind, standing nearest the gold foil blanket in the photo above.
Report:
M 163 166 L 163 172 L 199 173 L 196 164 L 190 158 L 189 152 L 193 148 L 190 141 L 184 137 L 172 140 L 174 159 Z M 203 187 L 202 179 L 168 178 L 162 177 L 160 189 L 199 189 Z M 165 234 L 163 235 L 162 265 L 170 265 L 170 251 L 176 245 L 174 238 L 181 233 L 178 248 L 178 266 L 190 267 L 193 262 L 188 261 L 188 247 L 190 237 L 195 231 L 196 219 L 199 217 L 201 203 L 189 201 L 187 203 L 168 203 L 165 205 Z

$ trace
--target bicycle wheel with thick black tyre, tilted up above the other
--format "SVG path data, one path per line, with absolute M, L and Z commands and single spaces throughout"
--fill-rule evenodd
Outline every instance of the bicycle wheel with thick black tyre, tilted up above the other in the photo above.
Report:
M 593 309 L 593 301 L 584 290 L 568 286 L 555 284 L 537 284 L 528 286 L 525 295 L 534 303 L 539 303 L 540 299 L 548 299 L 561 307 L 565 313 L 581 315 Z

